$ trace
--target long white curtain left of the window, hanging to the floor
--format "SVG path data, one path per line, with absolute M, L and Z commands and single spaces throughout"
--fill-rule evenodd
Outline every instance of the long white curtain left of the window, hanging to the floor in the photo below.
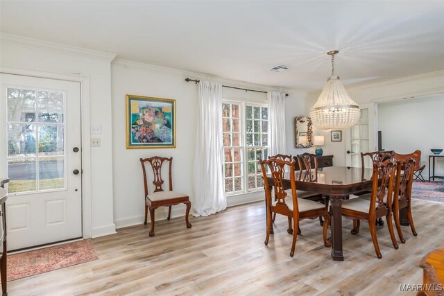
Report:
M 194 155 L 194 216 L 208 216 L 227 208 L 222 174 L 222 85 L 200 81 Z

